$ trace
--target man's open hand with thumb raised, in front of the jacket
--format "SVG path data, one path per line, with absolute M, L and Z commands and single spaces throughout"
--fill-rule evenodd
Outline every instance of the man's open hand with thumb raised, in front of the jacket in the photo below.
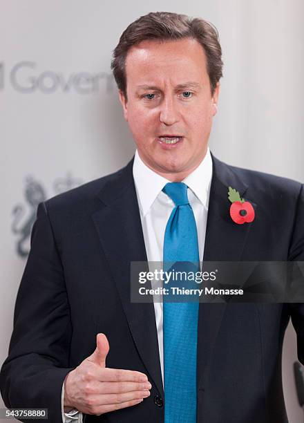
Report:
M 149 397 L 151 384 L 144 373 L 106 368 L 109 346 L 97 334 L 96 349 L 64 379 L 64 407 L 100 415 L 139 404 Z

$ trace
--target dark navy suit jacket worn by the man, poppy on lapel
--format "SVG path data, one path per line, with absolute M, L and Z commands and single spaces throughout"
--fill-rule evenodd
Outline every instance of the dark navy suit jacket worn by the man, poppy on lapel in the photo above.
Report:
M 204 260 L 304 261 L 303 185 L 212 160 Z M 48 408 L 48 421 L 61 422 L 64 377 L 104 332 L 106 365 L 146 373 L 151 396 L 84 422 L 164 421 L 153 304 L 130 301 L 130 262 L 146 261 L 132 167 L 39 205 L 1 368 L 6 406 Z M 231 220 L 229 186 L 254 204 L 252 223 Z M 304 304 L 200 304 L 198 422 L 287 422 L 281 354 L 290 317 L 304 364 Z

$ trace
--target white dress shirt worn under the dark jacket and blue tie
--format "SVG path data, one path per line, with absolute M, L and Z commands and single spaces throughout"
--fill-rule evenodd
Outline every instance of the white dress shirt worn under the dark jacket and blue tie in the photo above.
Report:
M 137 151 L 135 152 L 133 163 L 133 178 L 140 209 L 146 256 L 149 262 L 160 263 L 163 258 L 164 232 L 170 214 L 175 207 L 173 200 L 162 191 L 164 185 L 170 181 L 147 167 Z M 196 219 L 200 261 L 202 261 L 204 255 L 211 178 L 212 159 L 208 147 L 204 160 L 202 160 L 199 166 L 187 178 L 182 180 L 188 186 L 188 199 Z M 158 331 L 160 368 L 162 371 L 162 380 L 164 380 L 162 302 L 159 299 L 158 301 L 154 301 L 154 310 Z M 77 410 L 64 413 L 63 398 L 64 386 L 62 386 L 61 396 L 63 422 L 82 423 L 82 413 L 77 413 Z

